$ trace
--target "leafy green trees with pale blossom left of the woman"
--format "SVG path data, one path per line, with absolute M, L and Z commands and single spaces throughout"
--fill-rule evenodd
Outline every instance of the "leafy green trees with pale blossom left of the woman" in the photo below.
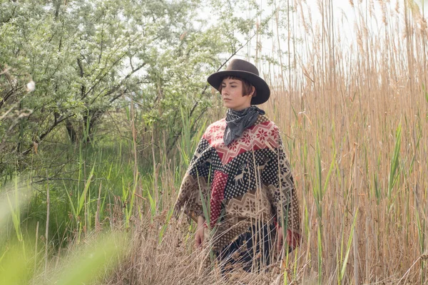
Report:
M 265 32 L 261 15 L 247 1 L 2 1 L 0 153 L 9 163 L 0 175 L 24 167 L 47 138 L 93 142 L 106 111 L 130 98 L 136 128 L 164 130 L 171 150 L 183 128 L 178 106 L 193 132 L 212 97 L 206 77 Z

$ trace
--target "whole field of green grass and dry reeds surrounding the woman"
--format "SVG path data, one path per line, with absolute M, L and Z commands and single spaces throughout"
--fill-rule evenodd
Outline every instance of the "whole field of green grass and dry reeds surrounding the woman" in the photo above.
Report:
M 203 127 L 225 110 L 214 95 L 200 121 L 181 114 L 168 153 L 166 130 L 146 128 L 130 104 L 106 115 L 98 142 L 56 145 L 57 167 L 43 165 L 51 148 L 40 146 L 30 170 L 5 184 L 0 283 L 428 284 L 426 18 L 413 1 L 379 1 L 374 25 L 374 8 L 350 1 L 357 24 L 344 35 L 329 1 L 319 1 L 321 26 L 305 1 L 292 2 L 290 33 L 301 41 L 272 48 L 295 51 L 282 58 L 288 68 L 258 66 L 300 200 L 297 250 L 228 280 L 204 266 L 195 224 L 172 209 Z

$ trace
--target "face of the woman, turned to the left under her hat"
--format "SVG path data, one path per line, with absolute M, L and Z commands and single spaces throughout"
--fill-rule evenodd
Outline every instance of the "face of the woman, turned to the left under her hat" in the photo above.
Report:
M 223 106 L 225 106 L 225 108 L 239 111 L 250 107 L 254 91 L 250 95 L 243 96 L 242 81 L 239 79 L 225 78 L 221 86 L 221 98 L 223 99 Z

